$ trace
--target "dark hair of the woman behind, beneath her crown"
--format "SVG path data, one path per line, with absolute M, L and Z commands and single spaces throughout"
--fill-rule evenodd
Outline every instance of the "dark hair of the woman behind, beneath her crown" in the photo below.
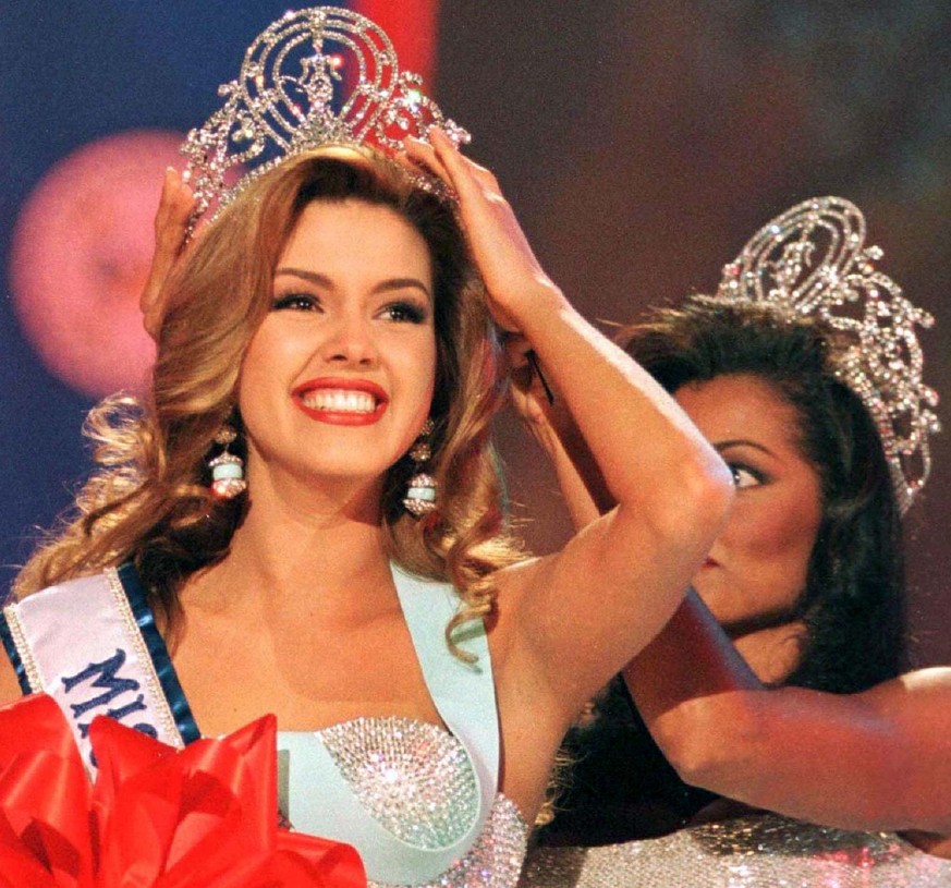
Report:
M 749 374 L 794 409 L 822 501 L 806 585 L 791 615 L 805 627 L 802 656 L 784 683 L 851 693 L 902 670 L 905 585 L 888 464 L 871 416 L 834 375 L 843 351 L 836 336 L 810 318 L 694 296 L 626 328 L 621 341 L 670 392 Z

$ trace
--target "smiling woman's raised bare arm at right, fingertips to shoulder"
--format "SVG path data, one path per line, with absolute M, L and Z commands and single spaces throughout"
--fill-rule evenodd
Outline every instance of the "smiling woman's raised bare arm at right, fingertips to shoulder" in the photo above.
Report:
M 548 368 L 617 506 L 557 556 L 500 580 L 509 653 L 566 721 L 670 618 L 732 499 L 726 465 L 676 403 L 546 277 L 487 170 L 443 137 L 411 150 L 460 196 L 490 309 Z M 508 619 L 500 616 L 500 622 Z M 507 669 L 507 672 L 509 670 Z

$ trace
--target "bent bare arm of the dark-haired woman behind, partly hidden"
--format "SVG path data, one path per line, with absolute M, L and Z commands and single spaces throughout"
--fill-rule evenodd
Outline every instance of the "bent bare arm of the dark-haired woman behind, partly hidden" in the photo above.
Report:
M 541 404 L 519 406 L 585 523 L 606 508 L 596 467 Z M 913 838 L 951 856 L 951 669 L 852 695 L 766 690 L 690 593 L 624 678 L 687 782 L 830 826 L 937 834 Z

